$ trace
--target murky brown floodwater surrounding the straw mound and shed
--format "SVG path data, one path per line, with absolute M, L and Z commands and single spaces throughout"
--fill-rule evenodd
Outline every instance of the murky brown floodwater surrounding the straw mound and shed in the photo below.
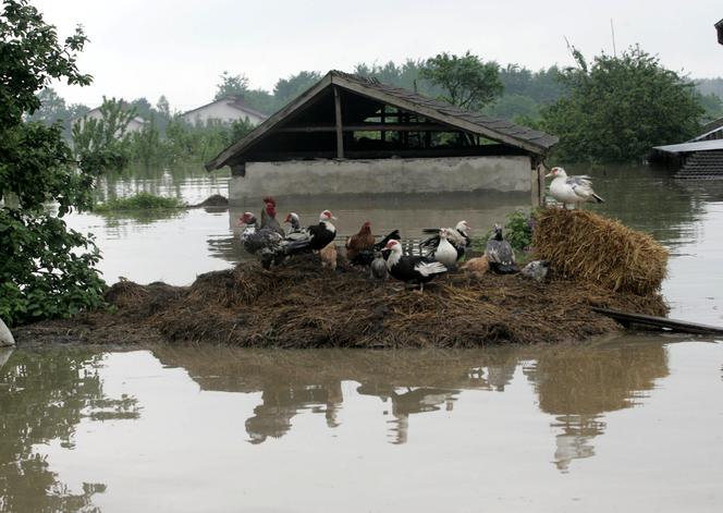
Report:
M 568 169 L 571 171 L 571 169 Z M 592 208 L 671 249 L 672 317 L 723 325 L 723 185 L 647 168 L 596 176 Z M 225 194 L 194 170 L 111 176 L 189 203 Z M 466 219 L 482 233 L 526 197 L 280 198 L 340 231 Z M 241 258 L 245 209 L 105 218 L 109 282 Z M 554 301 L 554 298 L 551 298 Z M 622 334 L 476 351 L 0 351 L 0 512 L 655 511 L 723 509 L 723 342 Z

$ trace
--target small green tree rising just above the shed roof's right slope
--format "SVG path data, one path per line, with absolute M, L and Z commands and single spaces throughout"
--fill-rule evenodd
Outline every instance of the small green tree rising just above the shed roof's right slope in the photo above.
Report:
M 442 99 L 468 110 L 480 110 L 502 95 L 497 62 L 482 62 L 467 51 L 462 57 L 440 53 L 425 62 L 420 76 L 444 88 Z

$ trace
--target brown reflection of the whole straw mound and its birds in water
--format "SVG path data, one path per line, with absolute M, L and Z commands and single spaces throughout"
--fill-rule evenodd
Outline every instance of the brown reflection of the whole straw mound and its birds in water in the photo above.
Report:
M 539 408 L 550 414 L 556 435 L 554 462 L 566 471 L 575 459 L 595 454 L 592 441 L 605 429 L 609 412 L 640 404 L 655 380 L 667 376 L 663 342 L 637 338 L 635 344 L 597 347 L 480 351 L 273 351 L 159 349 L 167 366 L 183 367 L 201 390 L 254 393 L 260 403 L 245 422 L 248 440 L 261 443 L 285 436 L 293 418 L 323 414 L 340 426 L 345 382 L 358 395 L 380 400 L 389 415 L 390 441 L 405 443 L 413 417 L 453 412 L 469 390 L 504 392 L 517 369 L 534 386 Z M 348 394 L 347 394 L 348 395 Z M 443 437 L 443 433 L 440 433 Z

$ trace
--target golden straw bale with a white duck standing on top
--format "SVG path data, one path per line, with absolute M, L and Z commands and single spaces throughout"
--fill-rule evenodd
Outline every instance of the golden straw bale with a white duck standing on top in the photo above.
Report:
M 615 292 L 655 294 L 667 269 L 667 249 L 650 235 L 585 210 L 542 210 L 532 246 L 557 276 Z

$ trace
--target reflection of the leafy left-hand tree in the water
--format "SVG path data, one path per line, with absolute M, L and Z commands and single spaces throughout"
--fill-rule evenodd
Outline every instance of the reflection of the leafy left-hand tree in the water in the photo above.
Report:
M 93 496 L 105 485 L 73 493 L 36 445 L 59 440 L 72 449 L 84 418 L 138 417 L 135 399 L 103 394 L 100 361 L 87 351 L 15 352 L 0 366 L 0 512 L 99 511 Z

